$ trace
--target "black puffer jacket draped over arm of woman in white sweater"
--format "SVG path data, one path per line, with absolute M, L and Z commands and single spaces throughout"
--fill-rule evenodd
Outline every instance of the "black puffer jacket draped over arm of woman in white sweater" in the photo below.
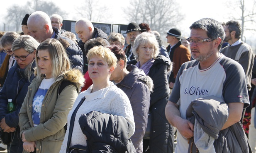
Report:
M 78 122 L 90 153 L 136 153 L 128 139 L 129 124 L 124 117 L 91 111 L 82 114 Z

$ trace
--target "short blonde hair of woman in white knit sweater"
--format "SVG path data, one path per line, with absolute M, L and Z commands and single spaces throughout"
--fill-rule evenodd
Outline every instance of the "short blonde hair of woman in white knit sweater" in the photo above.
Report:
M 102 46 L 95 46 L 92 49 L 89 50 L 87 57 L 88 57 L 88 63 L 90 61 L 90 58 L 93 56 L 99 56 L 102 59 L 104 59 L 107 62 L 108 67 L 114 66 L 117 67 L 117 57 L 115 57 L 115 54 L 111 52 L 109 48 L 102 47 Z

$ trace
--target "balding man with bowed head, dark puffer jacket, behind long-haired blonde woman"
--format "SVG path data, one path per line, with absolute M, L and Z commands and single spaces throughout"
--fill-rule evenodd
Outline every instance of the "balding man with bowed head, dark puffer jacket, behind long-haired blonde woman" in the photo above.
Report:
M 59 29 L 51 26 L 51 19 L 46 13 L 41 11 L 32 13 L 27 20 L 27 26 L 31 32 L 30 35 L 39 42 L 43 42 L 48 38 L 59 40 L 66 49 L 71 62 L 71 68 L 83 71 L 82 50 L 71 39 L 61 36 Z

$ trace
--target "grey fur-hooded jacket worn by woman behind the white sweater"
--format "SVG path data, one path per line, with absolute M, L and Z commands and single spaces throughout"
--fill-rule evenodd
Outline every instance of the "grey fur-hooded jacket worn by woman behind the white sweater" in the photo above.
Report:
M 126 69 L 130 72 L 117 84 L 127 94 L 135 122 L 135 132 L 131 137 L 137 153 L 142 153 L 142 139 L 146 131 L 150 105 L 150 92 L 153 91 L 153 81 L 149 76 L 135 65 L 128 64 Z

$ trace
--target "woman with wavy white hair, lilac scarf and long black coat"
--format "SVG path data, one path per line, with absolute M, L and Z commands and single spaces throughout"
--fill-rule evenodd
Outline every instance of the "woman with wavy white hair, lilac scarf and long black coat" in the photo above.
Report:
M 151 153 L 173 153 L 173 127 L 165 117 L 165 106 L 168 102 L 169 87 L 167 73 L 172 65 L 163 55 L 159 54 L 159 45 L 152 32 L 138 35 L 132 48 L 135 66 L 151 77 L 154 83 L 150 95 L 151 126 L 149 138 L 143 139 L 143 151 Z

